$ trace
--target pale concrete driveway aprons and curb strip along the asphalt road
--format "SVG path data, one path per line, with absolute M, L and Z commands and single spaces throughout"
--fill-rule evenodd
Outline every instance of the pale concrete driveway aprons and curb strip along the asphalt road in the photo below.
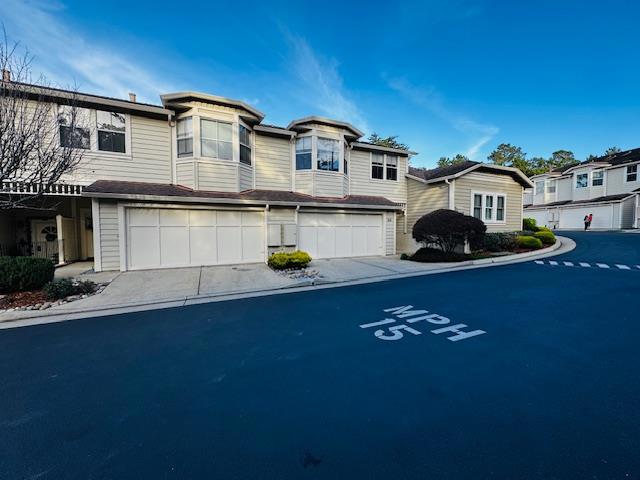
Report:
M 456 263 L 418 263 L 398 257 L 315 260 L 309 266 L 319 273 L 314 280 L 289 278 L 263 263 L 109 272 L 112 282 L 103 293 L 43 311 L 2 313 L 0 329 L 508 265 L 560 255 L 575 248 L 573 240 L 557 239 L 555 245 L 536 252 Z M 86 280 L 92 280 L 92 276 L 104 278 L 105 274 L 81 275 Z

